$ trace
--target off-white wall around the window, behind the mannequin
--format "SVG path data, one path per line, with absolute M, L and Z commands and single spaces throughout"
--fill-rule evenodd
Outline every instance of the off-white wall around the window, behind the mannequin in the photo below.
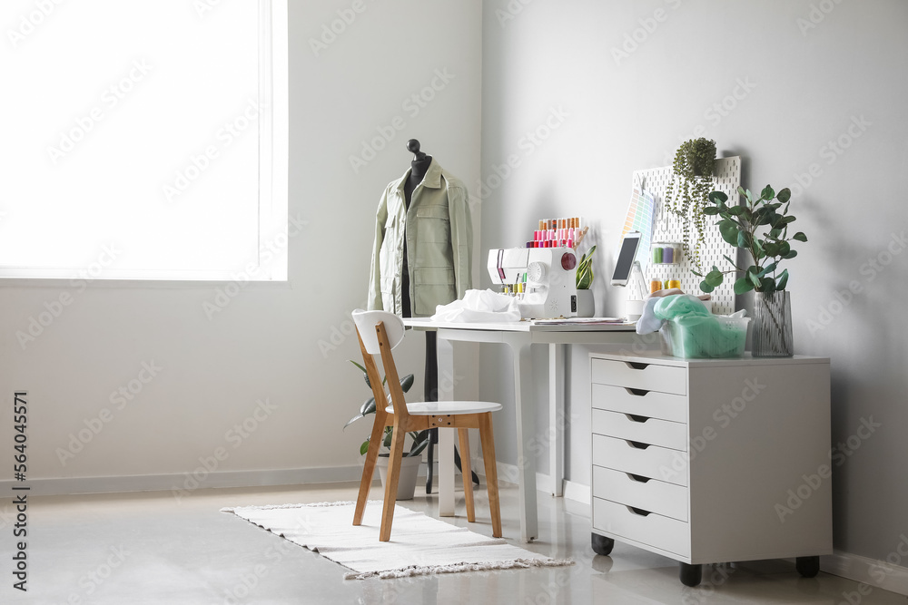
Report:
M 269 470 L 337 466 L 350 468 L 281 476 L 356 476 L 370 424 L 346 433 L 341 426 L 368 389 L 346 361 L 360 355 L 356 337 L 341 331 L 349 332 L 349 311 L 365 300 L 375 209 L 384 186 L 410 165 L 406 141 L 419 138 L 464 181 L 479 179 L 480 5 L 363 0 L 365 10 L 316 56 L 310 39 L 354 3 L 290 4 L 290 213 L 306 221 L 291 240 L 290 283 L 244 288 L 211 320 L 202 304 L 223 285 L 96 283 L 84 293 L 65 283 L 0 286 L 0 392 L 29 391 L 30 478 L 165 475 L 57 486 L 170 487 L 218 448 L 229 454 L 218 470 L 253 472 L 247 481 L 267 481 Z M 454 77 L 413 115 L 403 103 L 436 70 Z M 406 128 L 354 173 L 349 156 L 397 116 Z M 65 291 L 73 304 L 23 350 L 16 331 Z M 320 341 L 331 344 L 332 336 L 336 350 L 323 351 Z M 421 381 L 422 337 L 405 346 L 400 366 Z M 143 362 L 162 369 L 117 409 L 109 396 L 140 376 Z M 249 420 L 265 399 L 277 408 Z M 105 408 L 109 422 L 95 422 Z M 0 420 L 3 443 L 11 443 L 11 415 Z M 228 432 L 243 421 L 256 429 L 238 443 Z M 86 423 L 101 429 L 61 464 L 55 450 Z

